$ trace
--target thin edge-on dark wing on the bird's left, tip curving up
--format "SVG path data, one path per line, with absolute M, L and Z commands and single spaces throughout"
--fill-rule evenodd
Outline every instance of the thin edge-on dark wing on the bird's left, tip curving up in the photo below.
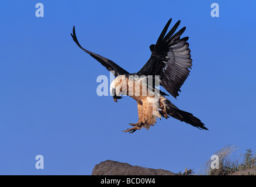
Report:
M 126 70 L 121 68 L 119 65 L 114 63 L 113 61 L 109 60 L 108 58 L 102 57 L 99 54 L 92 53 L 91 51 L 88 51 L 84 49 L 78 42 L 77 36 L 75 35 L 75 26 L 73 27 L 73 34 L 71 33 L 71 36 L 75 43 L 77 44 L 78 47 L 80 47 L 82 50 L 84 50 L 86 53 L 94 57 L 96 60 L 98 60 L 102 65 L 104 65 L 107 70 L 109 71 L 115 71 L 115 76 L 117 77 L 118 75 L 124 75 L 124 74 L 129 74 Z

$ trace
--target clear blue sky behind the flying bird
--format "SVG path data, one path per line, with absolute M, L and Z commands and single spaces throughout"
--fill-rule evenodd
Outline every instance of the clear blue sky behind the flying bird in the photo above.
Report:
M 35 16 L 37 2 L 44 18 Z M 217 2 L 219 18 L 210 16 Z M 149 168 L 198 171 L 215 151 L 256 150 L 256 2 L 1 1 L 0 174 L 91 175 L 105 160 Z M 99 97 L 96 78 L 109 72 L 85 49 L 129 72 L 150 57 L 165 23 L 179 19 L 193 59 L 177 100 L 209 131 L 176 119 L 123 133 L 137 105 Z M 43 155 L 44 169 L 35 168 Z

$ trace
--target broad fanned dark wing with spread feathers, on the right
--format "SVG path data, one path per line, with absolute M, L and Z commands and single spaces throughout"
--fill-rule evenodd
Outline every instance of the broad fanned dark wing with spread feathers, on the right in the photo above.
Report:
M 167 33 L 170 23 L 171 19 L 162 30 L 157 43 L 150 46 L 151 57 L 137 74 L 159 75 L 160 85 L 176 98 L 189 75 L 188 68 L 191 69 L 192 60 L 189 43 L 186 42 L 188 37 L 180 39 L 186 27 L 175 33 L 181 23 L 179 20 Z

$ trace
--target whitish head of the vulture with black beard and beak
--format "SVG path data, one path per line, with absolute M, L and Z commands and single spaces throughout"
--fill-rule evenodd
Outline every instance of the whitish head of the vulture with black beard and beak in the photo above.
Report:
M 127 92 L 127 79 L 125 75 L 117 76 L 110 84 L 110 91 L 113 95 L 113 99 L 117 102 L 117 99 L 121 99 Z

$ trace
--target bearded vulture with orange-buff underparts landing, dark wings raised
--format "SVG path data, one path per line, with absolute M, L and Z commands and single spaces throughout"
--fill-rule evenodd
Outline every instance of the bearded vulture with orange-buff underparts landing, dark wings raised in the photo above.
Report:
M 151 44 L 152 54 L 147 63 L 140 71 L 133 74 L 108 58 L 84 49 L 78 43 L 75 27 L 73 27 L 71 36 L 77 46 L 115 75 L 116 78 L 110 85 L 113 100 L 117 102 L 117 99 L 122 98 L 121 95 L 129 95 L 137 101 L 139 121 L 130 123 L 130 126 L 133 127 L 123 130 L 124 132 L 134 133 L 143 127 L 148 130 L 150 126 L 154 126 L 157 118 L 165 117 L 168 119 L 169 116 L 191 124 L 198 129 L 208 130 L 200 119 L 193 116 L 192 113 L 178 109 L 165 97 L 168 96 L 167 93 L 157 89 L 160 84 L 174 98 L 177 98 L 181 86 L 189 75 L 188 69 L 191 69 L 192 66 L 188 37 L 180 38 L 186 27 L 175 33 L 181 23 L 179 20 L 167 33 L 171 20 L 168 20 L 157 43 Z

